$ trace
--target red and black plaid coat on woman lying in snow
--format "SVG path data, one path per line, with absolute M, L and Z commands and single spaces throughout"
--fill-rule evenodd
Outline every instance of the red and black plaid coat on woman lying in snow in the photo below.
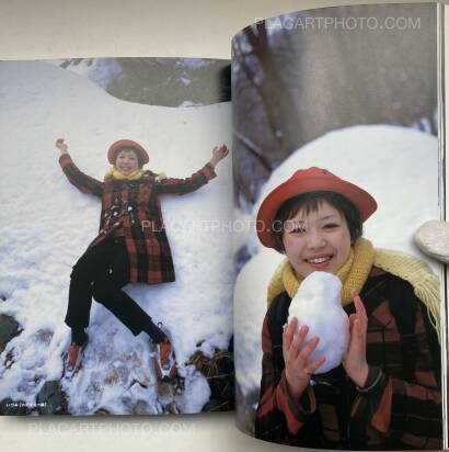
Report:
M 186 179 L 157 181 L 154 173 L 145 171 L 137 180 L 108 178 L 100 182 L 81 172 L 68 154 L 59 158 L 59 163 L 74 187 L 102 200 L 100 231 L 89 247 L 111 234 L 123 235 L 129 258 L 130 282 L 158 284 L 174 281 L 173 259 L 159 195 L 184 194 L 199 189 L 216 177 L 212 165 L 205 165 Z

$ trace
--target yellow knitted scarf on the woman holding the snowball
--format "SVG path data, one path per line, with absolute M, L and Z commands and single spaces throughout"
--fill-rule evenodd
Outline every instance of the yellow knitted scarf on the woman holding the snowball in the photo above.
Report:
M 431 273 L 425 262 L 405 252 L 375 249 L 369 240 L 361 237 L 357 239 L 350 250 L 349 258 L 336 272 L 343 284 L 342 305 L 346 306 L 353 302 L 352 291 L 361 291 L 372 267 L 378 267 L 412 284 L 415 295 L 427 306 L 430 323 L 441 343 L 440 284 L 438 276 Z M 302 280 L 302 276 L 295 273 L 288 259 L 280 262 L 268 284 L 268 306 L 273 298 L 284 291 L 292 298 Z

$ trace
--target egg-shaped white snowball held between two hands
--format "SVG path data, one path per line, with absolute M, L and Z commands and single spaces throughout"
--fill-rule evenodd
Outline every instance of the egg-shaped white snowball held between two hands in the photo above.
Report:
M 349 343 L 349 318 L 342 307 L 341 293 L 342 283 L 337 276 L 315 271 L 304 279 L 288 309 L 288 321 L 295 316 L 298 329 L 301 325 L 309 327 L 306 343 L 314 336 L 320 338 L 309 358 L 309 362 L 321 355 L 326 358 L 316 374 L 336 368 Z

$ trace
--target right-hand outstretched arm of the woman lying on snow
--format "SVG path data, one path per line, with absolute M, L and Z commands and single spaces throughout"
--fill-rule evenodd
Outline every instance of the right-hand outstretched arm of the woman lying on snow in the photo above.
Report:
M 215 147 L 211 159 L 199 171 L 185 179 L 170 178 L 158 181 L 157 191 L 159 193 L 184 194 L 198 190 L 217 176 L 215 167 L 228 154 L 229 149 L 226 145 Z

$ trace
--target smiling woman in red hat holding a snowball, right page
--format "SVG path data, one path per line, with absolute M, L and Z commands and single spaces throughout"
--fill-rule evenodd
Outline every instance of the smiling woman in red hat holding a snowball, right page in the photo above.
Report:
M 316 167 L 262 202 L 258 238 L 286 259 L 268 285 L 256 438 L 442 448 L 439 280 L 362 237 L 376 210 L 365 190 Z

